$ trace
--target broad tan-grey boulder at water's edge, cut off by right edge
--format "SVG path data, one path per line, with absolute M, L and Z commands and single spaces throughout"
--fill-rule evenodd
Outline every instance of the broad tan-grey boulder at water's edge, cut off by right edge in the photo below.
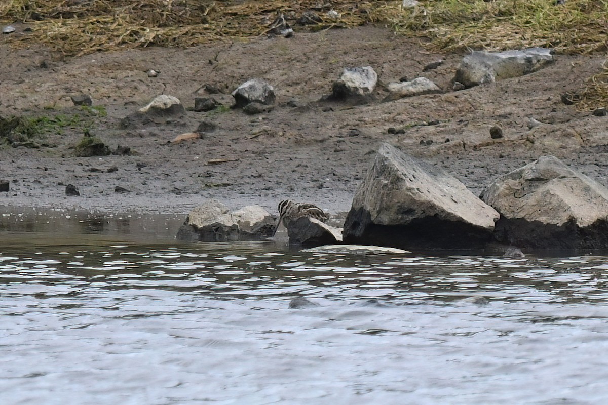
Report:
M 608 247 L 608 189 L 556 157 L 540 157 L 506 174 L 481 198 L 500 213 L 500 242 L 520 248 Z

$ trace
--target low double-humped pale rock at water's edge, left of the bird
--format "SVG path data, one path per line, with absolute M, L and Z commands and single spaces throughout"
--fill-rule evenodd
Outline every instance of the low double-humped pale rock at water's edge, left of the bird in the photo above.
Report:
M 190 211 L 178 237 L 205 242 L 259 239 L 272 236 L 274 223 L 274 216 L 259 205 L 230 211 L 221 202 L 207 200 Z M 198 237 L 188 238 L 192 232 Z

